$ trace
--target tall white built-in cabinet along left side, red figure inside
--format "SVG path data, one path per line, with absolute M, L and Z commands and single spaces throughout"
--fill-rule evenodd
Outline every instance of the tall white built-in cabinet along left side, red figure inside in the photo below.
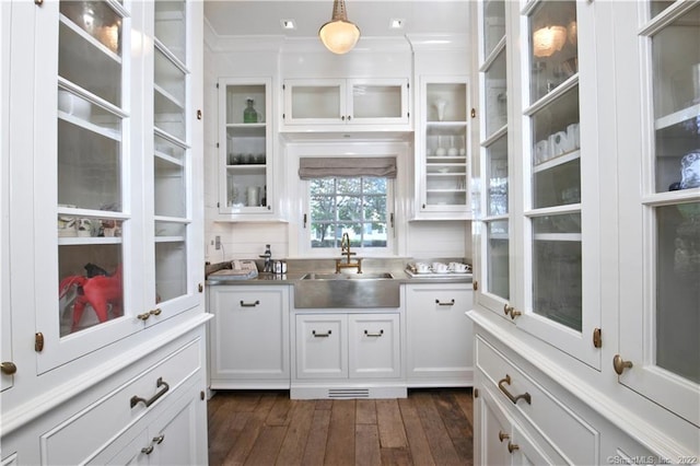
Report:
M 0 13 L 1 360 L 18 369 L 2 375 L 3 455 L 85 462 L 186 384 L 201 430 L 202 5 L 13 1 Z M 176 353 L 187 373 L 150 372 Z M 153 409 L 124 398 L 165 387 Z

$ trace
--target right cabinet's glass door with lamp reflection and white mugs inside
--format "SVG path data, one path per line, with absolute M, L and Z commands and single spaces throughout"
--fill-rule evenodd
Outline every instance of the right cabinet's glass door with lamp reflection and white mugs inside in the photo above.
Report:
M 594 8 L 539 1 L 520 11 L 520 37 L 527 44 L 526 54 L 516 59 L 526 70 L 520 98 L 524 156 L 518 161 L 524 196 L 517 219 L 524 289 L 504 312 L 518 328 L 597 368 L 600 352 L 593 336 L 600 322 L 598 283 L 594 276 L 584 280 L 584 270 L 598 265 L 595 254 L 583 254 L 584 246 L 597 249 L 596 115 L 595 105 L 587 106 L 591 114 L 584 119 L 580 102 L 583 95 L 596 100 L 596 88 L 583 78 L 595 75 Z M 580 72 L 580 58 L 588 74 Z M 584 120 L 590 121 L 588 147 L 581 143 Z

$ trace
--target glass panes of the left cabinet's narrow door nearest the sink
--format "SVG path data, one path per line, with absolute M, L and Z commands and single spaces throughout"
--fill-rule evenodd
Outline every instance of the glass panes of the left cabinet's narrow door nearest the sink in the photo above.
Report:
M 147 302 L 154 304 L 139 318 L 159 322 L 172 315 L 182 300 L 194 293 L 189 282 L 192 200 L 191 130 L 188 125 L 188 4 L 156 1 L 153 42 L 153 231 L 154 289 Z M 148 292 L 147 292 L 148 293 Z

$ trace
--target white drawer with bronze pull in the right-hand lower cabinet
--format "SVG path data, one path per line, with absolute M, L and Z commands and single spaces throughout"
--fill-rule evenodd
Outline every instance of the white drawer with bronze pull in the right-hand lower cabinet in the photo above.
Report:
M 492 384 L 494 391 L 502 395 L 501 400 L 513 408 L 515 417 L 529 421 L 568 462 L 581 465 L 598 463 L 598 431 L 479 336 L 476 339 L 476 363 L 486 376 L 485 383 Z

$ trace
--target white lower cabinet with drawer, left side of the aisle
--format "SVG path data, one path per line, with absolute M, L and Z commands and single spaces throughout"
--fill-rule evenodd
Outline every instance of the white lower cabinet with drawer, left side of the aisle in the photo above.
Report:
M 207 464 L 205 337 L 202 321 L 145 345 L 140 360 L 3 434 L 2 464 Z

